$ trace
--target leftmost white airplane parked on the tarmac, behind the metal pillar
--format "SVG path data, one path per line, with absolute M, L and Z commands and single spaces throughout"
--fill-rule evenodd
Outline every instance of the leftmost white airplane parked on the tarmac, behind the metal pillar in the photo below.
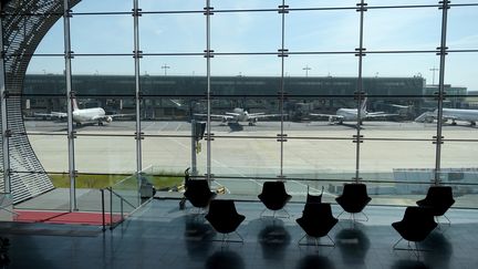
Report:
M 73 122 L 76 123 L 77 126 L 84 123 L 97 123 L 100 126 L 102 126 L 103 123 L 105 122 L 106 123 L 113 122 L 114 117 L 124 117 L 124 116 L 134 115 L 134 114 L 106 115 L 106 112 L 102 107 L 79 108 L 75 99 L 72 100 L 72 105 L 73 105 Z M 67 113 L 64 112 L 34 113 L 34 115 L 56 117 L 59 120 L 67 118 Z

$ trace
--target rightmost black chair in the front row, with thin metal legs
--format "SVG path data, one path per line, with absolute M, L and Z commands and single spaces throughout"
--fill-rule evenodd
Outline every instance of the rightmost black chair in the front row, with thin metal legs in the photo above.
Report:
M 404 250 L 414 249 L 411 247 L 411 241 L 415 242 L 415 251 L 419 256 L 419 249 L 417 242 L 425 240 L 425 238 L 437 227 L 435 223 L 433 213 L 427 207 L 407 207 L 405 209 L 404 217 L 401 221 L 393 223 L 392 227 L 402 236 L 402 238 L 395 242 L 393 249 L 404 249 L 397 248 L 398 242 L 403 239 L 408 241 L 408 248 Z

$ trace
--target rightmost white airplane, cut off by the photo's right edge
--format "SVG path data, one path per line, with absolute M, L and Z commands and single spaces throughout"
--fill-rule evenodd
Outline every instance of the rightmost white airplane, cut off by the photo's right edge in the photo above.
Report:
M 438 110 L 434 112 L 425 112 L 415 118 L 418 123 L 433 123 L 438 116 Z M 456 125 L 456 121 L 469 122 L 470 126 L 476 126 L 478 122 L 478 110 L 464 110 L 464 108 L 443 108 L 443 121 L 451 120 L 451 125 Z

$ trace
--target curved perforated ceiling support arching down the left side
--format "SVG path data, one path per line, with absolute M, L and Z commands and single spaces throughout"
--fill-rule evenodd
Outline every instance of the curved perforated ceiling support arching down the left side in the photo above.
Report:
M 71 7 L 80 0 L 71 1 Z M 21 111 L 24 75 L 32 54 L 53 24 L 63 15 L 63 1 L 2 1 L 3 63 L 6 80 L 10 179 L 13 203 L 51 190 L 53 184 L 25 135 Z M 0 137 L 1 139 L 1 137 Z M 1 142 L 1 141 L 0 141 Z M 1 148 L 0 148 L 1 151 Z M 0 154 L 0 156 L 2 156 Z M 3 163 L 0 163 L 3 169 Z M 4 186 L 0 179 L 0 189 Z

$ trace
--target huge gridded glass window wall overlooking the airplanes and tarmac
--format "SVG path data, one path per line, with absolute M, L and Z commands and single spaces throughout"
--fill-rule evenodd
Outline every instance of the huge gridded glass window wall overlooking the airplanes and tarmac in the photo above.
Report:
M 441 182 L 476 207 L 478 2 L 364 4 L 80 1 L 33 45 L 24 80 L 6 45 L 11 156 L 27 143 L 42 164 L 14 173 L 92 189 L 143 172 L 179 197 L 191 167 L 248 199 L 277 178 L 298 200 L 362 180 L 387 205 Z

